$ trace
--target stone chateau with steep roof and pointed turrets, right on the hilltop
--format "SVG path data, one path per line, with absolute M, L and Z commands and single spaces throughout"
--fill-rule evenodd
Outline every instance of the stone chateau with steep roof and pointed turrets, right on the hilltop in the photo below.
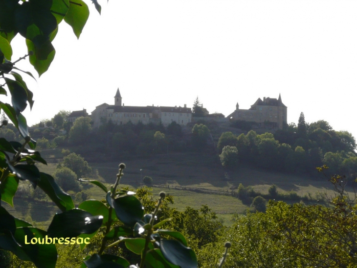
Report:
M 288 107 L 279 98 L 258 98 L 249 109 L 239 109 L 237 102 L 236 110 L 227 116 L 230 121 L 255 122 L 257 127 L 283 128 L 288 120 Z

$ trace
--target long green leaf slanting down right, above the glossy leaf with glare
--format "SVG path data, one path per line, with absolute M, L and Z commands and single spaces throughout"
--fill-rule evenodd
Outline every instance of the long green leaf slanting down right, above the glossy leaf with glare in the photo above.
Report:
M 70 195 L 63 192 L 51 175 L 40 172 L 38 186 L 48 195 L 51 200 L 62 210 L 67 211 L 74 208 Z

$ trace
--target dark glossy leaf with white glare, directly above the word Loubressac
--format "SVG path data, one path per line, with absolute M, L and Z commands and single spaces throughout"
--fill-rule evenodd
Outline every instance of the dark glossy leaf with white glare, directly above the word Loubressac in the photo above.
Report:
M 81 209 L 71 209 L 56 214 L 48 227 L 48 236 L 77 237 L 80 234 L 91 234 L 102 225 L 103 216 L 92 216 Z

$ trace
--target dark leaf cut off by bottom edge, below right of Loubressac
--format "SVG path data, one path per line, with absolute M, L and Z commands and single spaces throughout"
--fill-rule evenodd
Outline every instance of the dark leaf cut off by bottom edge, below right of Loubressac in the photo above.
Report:
M 124 258 L 109 254 L 93 254 L 84 263 L 88 268 L 126 268 L 130 265 Z

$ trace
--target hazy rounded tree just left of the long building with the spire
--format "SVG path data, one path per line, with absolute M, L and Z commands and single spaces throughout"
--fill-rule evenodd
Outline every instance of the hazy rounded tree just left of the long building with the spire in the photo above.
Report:
M 73 144 L 85 144 L 88 141 L 92 127 L 89 117 L 79 117 L 69 130 L 69 141 Z

